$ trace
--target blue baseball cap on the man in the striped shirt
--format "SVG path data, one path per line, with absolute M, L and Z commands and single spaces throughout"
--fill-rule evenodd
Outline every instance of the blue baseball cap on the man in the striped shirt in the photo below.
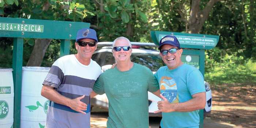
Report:
M 85 38 L 94 39 L 95 41 L 98 42 L 96 31 L 93 29 L 84 28 L 84 29 L 78 30 L 76 35 L 76 42 L 78 42 L 80 39 L 85 39 Z

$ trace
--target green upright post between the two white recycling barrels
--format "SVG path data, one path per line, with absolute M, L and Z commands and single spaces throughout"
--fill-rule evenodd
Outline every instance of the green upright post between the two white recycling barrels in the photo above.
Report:
M 20 127 L 21 80 L 23 60 L 23 38 L 14 38 L 12 69 L 14 80 L 14 128 Z

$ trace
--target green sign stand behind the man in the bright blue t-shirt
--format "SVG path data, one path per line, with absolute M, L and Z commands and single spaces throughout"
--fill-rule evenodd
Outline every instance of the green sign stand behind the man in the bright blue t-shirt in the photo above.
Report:
M 150 37 L 159 46 L 159 41 L 166 35 L 174 35 L 183 49 L 181 61 L 199 69 L 204 76 L 204 49 L 214 48 L 219 41 L 218 35 L 176 33 L 170 31 L 151 31 Z M 203 128 L 204 110 L 199 111 L 199 127 Z

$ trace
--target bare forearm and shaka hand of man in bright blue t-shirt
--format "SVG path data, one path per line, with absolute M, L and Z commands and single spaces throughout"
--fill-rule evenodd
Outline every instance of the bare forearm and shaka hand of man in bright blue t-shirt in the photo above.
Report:
M 192 99 L 183 103 L 170 103 L 165 97 L 160 95 L 163 101 L 158 101 L 158 109 L 154 113 L 159 112 L 191 112 L 204 109 L 206 104 L 206 93 L 196 93 L 192 95 Z

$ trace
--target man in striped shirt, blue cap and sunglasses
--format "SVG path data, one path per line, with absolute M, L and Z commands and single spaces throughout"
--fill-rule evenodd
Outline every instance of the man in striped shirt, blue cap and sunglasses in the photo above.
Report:
M 60 57 L 46 76 L 41 95 L 50 100 L 45 128 L 90 128 L 90 93 L 101 67 L 91 59 L 98 39 L 93 29 L 81 29 L 77 54 Z

